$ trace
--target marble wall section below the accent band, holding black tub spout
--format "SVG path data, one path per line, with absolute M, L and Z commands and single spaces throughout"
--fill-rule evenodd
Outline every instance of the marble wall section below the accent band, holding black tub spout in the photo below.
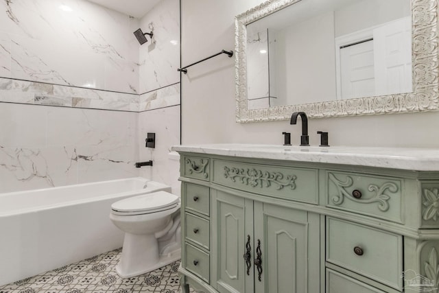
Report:
M 147 132 L 156 133 L 156 148 L 145 148 Z M 169 159 L 172 145 L 180 144 L 180 105 L 139 113 L 139 161 L 154 161 L 152 167 L 140 168 L 140 175 L 174 187 L 178 185 L 178 161 Z M 177 175 L 176 175 L 177 174 Z

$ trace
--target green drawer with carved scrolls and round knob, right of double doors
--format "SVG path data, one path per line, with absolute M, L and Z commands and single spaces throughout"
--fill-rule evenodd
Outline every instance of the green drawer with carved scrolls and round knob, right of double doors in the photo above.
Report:
M 401 179 L 331 171 L 326 178 L 329 207 L 403 222 Z

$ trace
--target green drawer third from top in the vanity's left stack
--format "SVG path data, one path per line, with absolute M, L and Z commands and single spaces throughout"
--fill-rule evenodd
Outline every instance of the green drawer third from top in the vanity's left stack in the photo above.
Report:
M 186 239 L 209 250 L 209 221 L 190 213 L 186 213 L 185 217 Z

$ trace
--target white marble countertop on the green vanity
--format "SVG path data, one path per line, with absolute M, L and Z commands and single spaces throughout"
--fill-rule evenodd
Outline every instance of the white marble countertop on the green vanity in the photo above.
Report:
M 171 150 L 176 152 L 242 156 L 246 158 L 334 163 L 416 171 L 439 171 L 439 149 L 432 148 L 301 147 L 218 143 L 174 145 Z

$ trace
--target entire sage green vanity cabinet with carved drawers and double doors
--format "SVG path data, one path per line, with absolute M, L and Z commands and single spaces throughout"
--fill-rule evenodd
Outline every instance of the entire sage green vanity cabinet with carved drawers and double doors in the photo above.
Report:
M 439 164 L 193 150 L 177 149 L 182 292 L 439 292 Z

